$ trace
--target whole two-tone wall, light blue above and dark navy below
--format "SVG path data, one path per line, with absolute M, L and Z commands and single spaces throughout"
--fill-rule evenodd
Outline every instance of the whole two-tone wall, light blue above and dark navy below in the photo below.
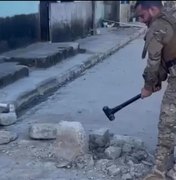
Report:
M 0 53 L 39 40 L 38 3 L 0 2 Z

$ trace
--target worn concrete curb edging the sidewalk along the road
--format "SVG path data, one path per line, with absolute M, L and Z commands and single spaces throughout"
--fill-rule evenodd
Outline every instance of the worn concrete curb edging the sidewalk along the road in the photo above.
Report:
M 144 32 L 145 32 L 145 28 L 141 28 L 135 34 L 132 34 L 127 39 L 118 43 L 116 46 L 109 49 L 105 53 L 94 54 L 84 63 L 73 66 L 68 71 L 64 72 L 63 74 L 59 74 L 57 77 L 46 79 L 45 81 L 40 83 L 35 89 L 29 92 L 25 92 L 21 96 L 17 97 L 16 101 L 14 102 L 16 113 L 20 115 L 21 111 L 43 101 L 45 98 L 51 95 L 54 91 L 58 90 L 59 87 L 61 87 L 62 85 L 66 84 L 67 82 L 71 80 L 76 79 L 86 69 L 91 68 L 92 66 L 106 59 L 108 56 L 114 54 L 120 48 L 124 47 L 132 40 L 135 40 Z

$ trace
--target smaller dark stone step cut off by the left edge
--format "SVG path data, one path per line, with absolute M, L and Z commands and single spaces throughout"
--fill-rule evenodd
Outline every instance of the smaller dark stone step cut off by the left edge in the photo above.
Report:
M 0 88 L 5 87 L 23 77 L 29 75 L 29 69 L 26 66 L 17 63 L 0 63 Z

